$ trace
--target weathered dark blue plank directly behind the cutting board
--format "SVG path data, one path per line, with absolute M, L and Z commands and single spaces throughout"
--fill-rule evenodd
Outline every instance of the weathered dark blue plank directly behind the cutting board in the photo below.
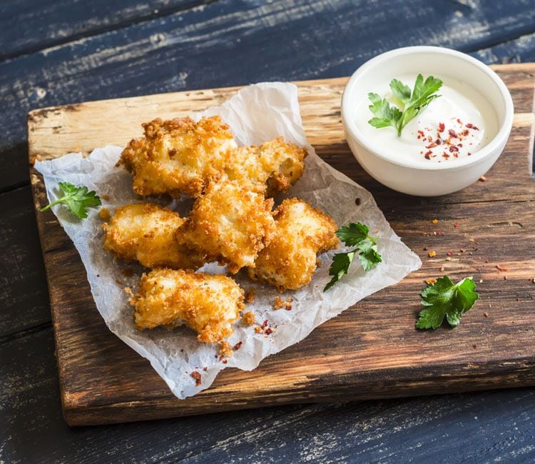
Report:
M 506 6 L 475 0 L 223 0 L 1 62 L 0 190 L 27 182 L 24 117 L 31 109 L 348 76 L 398 46 L 477 51 L 532 33 L 531 6 L 531 0 Z

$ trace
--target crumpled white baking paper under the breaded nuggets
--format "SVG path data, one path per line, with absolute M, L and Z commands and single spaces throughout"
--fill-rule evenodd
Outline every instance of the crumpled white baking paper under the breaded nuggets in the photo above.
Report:
M 365 273 L 355 260 L 349 274 L 324 293 L 323 287 L 330 281 L 328 270 L 335 251 L 324 253 L 319 258 L 322 266 L 317 269 L 310 285 L 282 295 L 284 299 L 293 299 L 291 311 L 273 308 L 275 298 L 279 296 L 275 288 L 253 283 L 245 273 L 238 273 L 235 279 L 240 286 L 256 293 L 255 301 L 248 304 L 247 311 L 255 313 L 259 324 L 267 320 L 273 332 L 268 336 L 255 333 L 255 326 L 245 327 L 237 321 L 235 333 L 228 341 L 232 346 L 238 342 L 242 345 L 225 363 L 218 356 L 218 345 L 198 343 L 196 334 L 188 328 L 136 331 L 133 309 L 128 303 L 125 288 L 128 286 L 136 291 L 143 268 L 116 261 L 111 253 L 103 250 L 103 221 L 97 208 L 89 210 L 85 220 L 78 220 L 65 206 L 54 206 L 58 221 L 80 253 L 96 307 L 106 325 L 128 346 L 151 361 L 153 368 L 178 398 L 187 398 L 208 388 L 224 368 L 256 368 L 266 356 L 301 341 L 327 319 L 337 316 L 365 296 L 401 281 L 422 264 L 392 231 L 372 195 L 322 161 L 307 143 L 296 86 L 280 82 L 255 84 L 240 90 L 221 106 L 191 116 L 198 120 L 214 114 L 219 114 L 230 125 L 238 145 L 258 145 L 283 136 L 286 141 L 306 146 L 309 155 L 305 173 L 291 188 L 289 196 L 302 198 L 329 213 L 339 225 L 352 221 L 366 223 L 371 233 L 379 238 L 378 248 L 383 262 Z M 132 136 L 138 135 L 137 131 L 133 131 Z M 105 146 L 97 148 L 87 158 L 83 158 L 81 153 L 70 153 L 52 161 L 37 161 L 35 168 L 44 176 L 49 201 L 58 198 L 58 182 L 61 181 L 95 190 L 103 198 L 103 206 L 111 213 L 118 206 L 146 201 L 133 193 L 131 175 L 123 168 L 115 167 L 121 150 L 118 146 Z M 356 198 L 360 198 L 359 206 L 355 204 Z M 151 201 L 169 206 L 183 215 L 192 204 L 189 198 Z M 129 276 L 126 269 L 133 270 L 133 275 Z M 200 271 L 221 273 L 225 268 L 210 263 Z M 201 374 L 200 385 L 195 385 L 191 376 L 193 371 Z

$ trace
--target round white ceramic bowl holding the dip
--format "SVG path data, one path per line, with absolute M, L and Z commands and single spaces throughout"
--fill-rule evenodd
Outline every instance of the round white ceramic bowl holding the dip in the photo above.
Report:
M 402 74 L 449 76 L 477 89 L 494 108 L 498 132 L 474 156 L 454 163 L 429 163 L 414 167 L 402 156 L 393 161 L 362 135 L 355 123 L 359 101 L 367 99 L 374 83 Z M 513 125 L 513 101 L 505 84 L 488 66 L 459 51 L 435 46 L 411 46 L 387 51 L 360 66 L 345 86 L 342 95 L 342 123 L 347 143 L 360 165 L 380 183 L 402 193 L 438 196 L 459 191 L 481 177 L 503 151 Z M 370 114 L 371 116 L 371 114 Z

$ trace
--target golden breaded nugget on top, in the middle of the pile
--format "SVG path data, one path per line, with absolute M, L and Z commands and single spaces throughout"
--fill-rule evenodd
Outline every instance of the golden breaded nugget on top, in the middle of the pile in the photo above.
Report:
M 236 273 L 254 266 L 258 251 L 269 243 L 275 229 L 272 206 L 271 198 L 246 181 L 210 183 L 178 229 L 177 241 Z

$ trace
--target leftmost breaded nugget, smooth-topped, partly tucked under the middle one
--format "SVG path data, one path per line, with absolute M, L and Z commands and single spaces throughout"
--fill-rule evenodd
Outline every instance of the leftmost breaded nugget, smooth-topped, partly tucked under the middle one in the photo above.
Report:
M 104 249 L 148 268 L 200 268 L 202 256 L 175 240 L 184 221 L 178 213 L 154 203 L 121 206 L 111 221 L 103 224 Z

